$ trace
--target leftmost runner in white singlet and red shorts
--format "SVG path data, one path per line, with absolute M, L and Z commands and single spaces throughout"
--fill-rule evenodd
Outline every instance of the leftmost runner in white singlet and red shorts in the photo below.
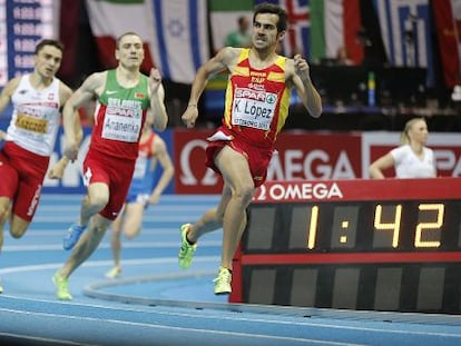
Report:
M 63 46 L 42 40 L 36 47 L 31 73 L 11 79 L 0 95 L 0 112 L 11 102 L 13 112 L 7 131 L 0 130 L 0 249 L 3 227 L 10 220 L 10 234 L 21 238 L 36 214 L 48 170 L 50 155 L 61 123 L 61 108 L 72 90 L 56 78 Z M 81 128 L 75 127 L 79 144 Z M 49 170 L 51 179 L 61 178 L 68 164 L 61 158 Z M 0 293 L 3 288 L 0 286 Z

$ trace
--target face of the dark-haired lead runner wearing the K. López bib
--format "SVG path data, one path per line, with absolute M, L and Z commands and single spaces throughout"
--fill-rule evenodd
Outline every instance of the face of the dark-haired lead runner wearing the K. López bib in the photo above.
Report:
M 253 23 L 253 47 L 256 49 L 276 48 L 278 16 L 274 13 L 258 13 Z

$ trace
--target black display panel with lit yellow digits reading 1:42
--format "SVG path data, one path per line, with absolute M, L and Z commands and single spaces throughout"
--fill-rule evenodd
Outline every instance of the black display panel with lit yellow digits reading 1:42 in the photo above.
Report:
M 459 249 L 460 210 L 459 200 L 254 205 L 247 249 L 265 248 L 261 227 L 272 233 L 272 253 Z

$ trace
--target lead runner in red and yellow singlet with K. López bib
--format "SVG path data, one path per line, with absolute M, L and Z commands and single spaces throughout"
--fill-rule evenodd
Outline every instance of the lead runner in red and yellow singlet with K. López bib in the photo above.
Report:
M 197 72 L 189 105 L 183 115 L 188 128 L 198 117 L 197 103 L 213 75 L 229 72 L 223 125 L 208 138 L 206 165 L 224 179 L 217 208 L 208 210 L 194 225 L 180 227 L 179 266 L 188 268 L 196 241 L 204 234 L 223 228 L 222 261 L 215 279 L 215 294 L 232 291 L 232 259 L 246 226 L 246 208 L 266 171 L 278 132 L 288 116 L 291 89 L 295 88 L 310 115 L 322 113 L 321 97 L 310 77 L 305 59 L 276 53 L 284 38 L 286 12 L 263 3 L 253 16 L 252 48 L 222 49 Z

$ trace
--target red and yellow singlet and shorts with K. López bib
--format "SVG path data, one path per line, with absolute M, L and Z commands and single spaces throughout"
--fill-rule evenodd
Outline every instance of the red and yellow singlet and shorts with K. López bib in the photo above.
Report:
M 255 187 L 264 184 L 277 135 L 288 116 L 291 90 L 285 85 L 286 58 L 254 69 L 249 49 L 242 49 L 226 89 L 223 125 L 208 138 L 206 165 L 219 172 L 214 158 L 224 146 L 243 154 Z

